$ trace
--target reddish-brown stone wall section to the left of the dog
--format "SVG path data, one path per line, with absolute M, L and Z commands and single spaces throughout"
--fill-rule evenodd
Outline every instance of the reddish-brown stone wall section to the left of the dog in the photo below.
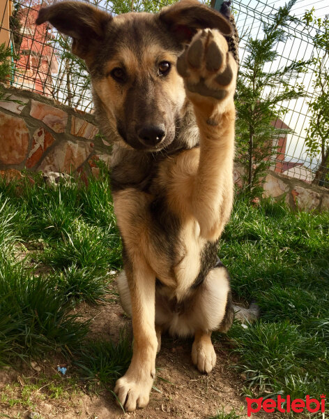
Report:
M 96 173 L 95 161 L 109 163 L 111 147 L 93 115 L 33 94 L 6 89 L 0 101 L 0 170 L 8 175 L 26 168 L 43 172 Z

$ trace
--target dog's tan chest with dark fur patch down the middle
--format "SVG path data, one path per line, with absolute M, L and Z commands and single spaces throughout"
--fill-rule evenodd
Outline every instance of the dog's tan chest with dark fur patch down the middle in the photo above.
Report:
M 148 170 L 146 164 L 136 165 L 138 177 L 131 161 L 128 166 L 122 161 L 119 172 L 114 172 L 119 186 L 113 191 L 114 210 L 126 257 L 144 258 L 176 294 L 184 293 L 199 275 L 206 245 L 190 212 L 198 153 L 191 149 Z M 118 174 L 123 182 L 117 182 Z

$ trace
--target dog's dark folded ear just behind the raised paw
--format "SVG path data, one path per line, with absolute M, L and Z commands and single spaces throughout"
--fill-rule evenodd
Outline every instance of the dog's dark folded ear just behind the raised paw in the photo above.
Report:
M 197 29 L 218 29 L 223 35 L 233 31 L 223 15 L 197 0 L 181 0 L 167 6 L 160 11 L 159 18 L 181 42 L 191 41 Z

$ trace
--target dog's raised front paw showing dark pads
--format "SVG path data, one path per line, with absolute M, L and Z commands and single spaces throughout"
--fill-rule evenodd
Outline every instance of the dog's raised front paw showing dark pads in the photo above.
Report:
M 218 101 L 233 98 L 237 67 L 224 36 L 214 29 L 196 34 L 177 60 L 177 71 L 188 93 Z

